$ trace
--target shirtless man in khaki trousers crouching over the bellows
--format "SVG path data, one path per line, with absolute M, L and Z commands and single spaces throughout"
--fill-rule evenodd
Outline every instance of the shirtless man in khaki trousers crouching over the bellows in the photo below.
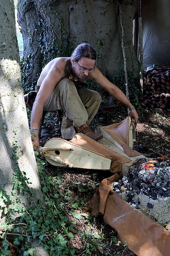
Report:
M 98 92 L 80 89 L 79 83 L 93 79 L 110 95 L 130 111 L 137 124 L 138 114 L 125 94 L 108 81 L 95 66 L 96 52 L 90 44 L 80 44 L 71 57 L 59 57 L 50 61 L 42 70 L 37 82 L 38 90 L 31 113 L 31 138 L 39 151 L 39 128 L 42 112 L 62 109 L 62 137 L 71 140 L 76 132 L 82 132 L 94 140 L 102 135 L 91 131 L 89 124 L 101 103 Z

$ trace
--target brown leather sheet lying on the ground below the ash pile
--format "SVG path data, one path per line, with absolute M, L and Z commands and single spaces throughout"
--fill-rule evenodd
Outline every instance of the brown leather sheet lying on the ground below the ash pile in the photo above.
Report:
M 106 224 L 117 231 L 119 239 L 137 256 L 169 256 L 170 231 L 156 224 L 144 214 L 127 204 L 110 188 L 117 180 L 115 174 L 102 180 L 91 198 L 92 213 L 103 214 Z

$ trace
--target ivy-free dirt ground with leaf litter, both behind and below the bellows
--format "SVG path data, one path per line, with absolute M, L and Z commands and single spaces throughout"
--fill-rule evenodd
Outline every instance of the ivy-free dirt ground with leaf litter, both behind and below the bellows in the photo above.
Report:
M 170 110 L 160 111 L 159 109 L 148 110 L 142 108 L 138 113 L 139 122 L 136 127 L 136 142 L 134 143 L 133 149 L 146 156 L 152 154 L 153 157 L 155 154 L 156 157 L 163 155 L 170 158 Z M 51 137 L 59 137 L 59 122 L 55 115 L 56 113 L 51 113 L 42 127 L 42 145 Z M 94 128 L 97 124 L 104 126 L 118 123 L 125 119 L 126 116 L 127 113 L 123 109 L 107 113 L 107 115 L 103 115 L 102 117 L 101 115 L 96 116 L 96 120 L 92 123 L 92 127 Z M 47 169 L 51 175 L 56 175 L 54 166 L 48 164 Z M 63 173 L 63 193 L 71 187 L 71 190 L 74 193 L 72 194 L 72 197 L 77 198 L 79 201 L 83 200 L 85 203 L 84 208 L 81 209 L 82 212 L 91 212 L 89 200 L 102 179 L 111 176 L 111 172 L 101 170 L 94 172 L 94 170 L 63 168 Z M 83 193 L 79 191 L 78 186 L 76 185 L 78 183 L 85 184 L 86 187 Z M 71 220 L 73 216 L 69 212 L 69 206 L 66 207 Z M 80 232 L 84 232 L 89 228 L 89 222 L 86 222 L 85 220 L 86 218 L 83 218 L 77 222 L 77 229 Z M 122 241 L 122 243 L 119 242 L 118 234 L 104 223 L 102 216 L 94 216 L 91 221 L 91 226 L 93 227 L 94 233 L 96 231 L 100 235 L 103 234 L 105 238 L 103 241 L 105 246 L 98 247 L 98 250 L 93 253 L 92 256 L 135 256 L 135 254 L 128 249 L 125 241 Z M 116 241 L 113 241 L 115 239 Z M 71 240 L 71 243 L 77 249 L 75 255 L 86 255 L 83 253 L 87 241 L 84 241 L 79 234 Z

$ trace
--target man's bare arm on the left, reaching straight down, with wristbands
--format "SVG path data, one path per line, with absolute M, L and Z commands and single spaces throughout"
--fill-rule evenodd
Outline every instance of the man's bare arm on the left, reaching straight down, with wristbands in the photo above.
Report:
M 40 86 L 40 90 L 37 93 L 37 97 L 35 99 L 33 109 L 31 112 L 31 129 L 34 130 L 40 128 L 44 104 L 50 97 L 56 84 L 63 78 L 63 76 L 63 72 L 59 70 L 57 67 L 51 68 L 47 76 L 45 76 Z M 31 132 L 31 138 L 33 140 L 34 149 L 36 149 L 39 152 L 39 133 L 34 131 Z

